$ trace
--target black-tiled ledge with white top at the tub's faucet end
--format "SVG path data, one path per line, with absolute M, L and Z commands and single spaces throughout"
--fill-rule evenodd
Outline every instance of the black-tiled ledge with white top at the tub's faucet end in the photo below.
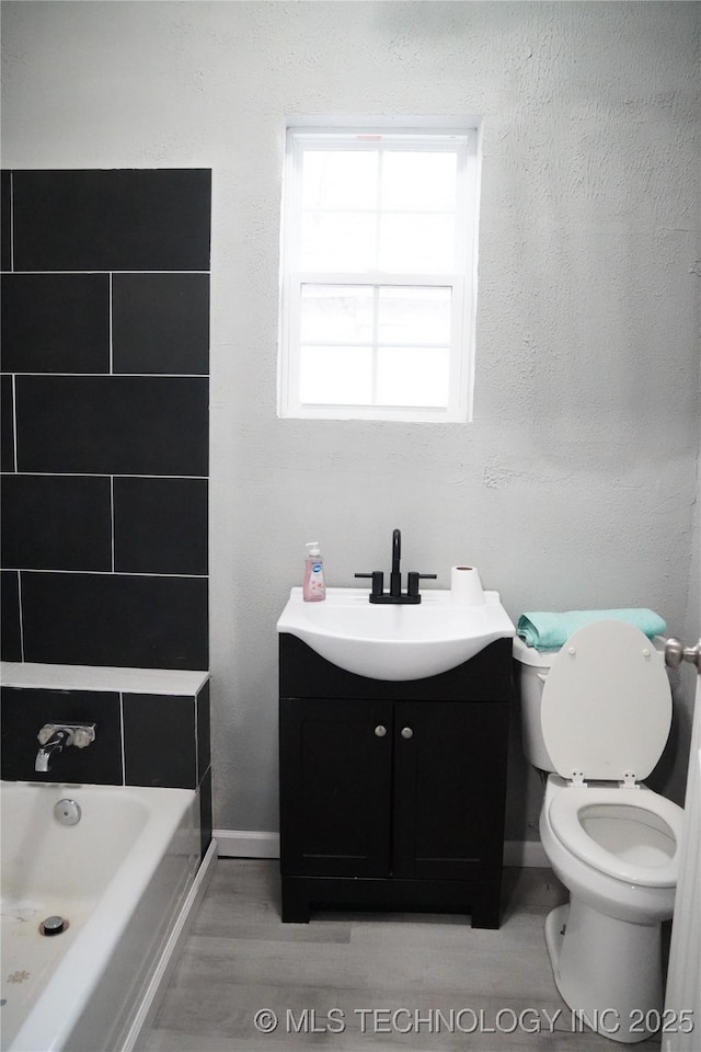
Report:
M 5 781 L 195 789 L 204 855 L 211 839 L 208 673 L 2 662 L 1 676 Z M 95 723 L 95 741 L 35 771 L 36 735 L 60 720 Z

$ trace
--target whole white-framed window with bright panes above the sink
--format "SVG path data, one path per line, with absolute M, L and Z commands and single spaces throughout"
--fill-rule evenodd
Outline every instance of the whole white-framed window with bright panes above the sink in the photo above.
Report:
M 279 415 L 466 421 L 476 129 L 290 129 Z

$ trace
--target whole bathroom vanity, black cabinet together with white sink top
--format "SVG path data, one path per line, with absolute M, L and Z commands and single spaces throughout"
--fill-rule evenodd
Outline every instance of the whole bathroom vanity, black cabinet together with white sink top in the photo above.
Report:
M 283 921 L 356 907 L 498 927 L 514 627 L 485 595 L 372 608 L 364 590 L 309 604 L 292 588 L 278 621 Z

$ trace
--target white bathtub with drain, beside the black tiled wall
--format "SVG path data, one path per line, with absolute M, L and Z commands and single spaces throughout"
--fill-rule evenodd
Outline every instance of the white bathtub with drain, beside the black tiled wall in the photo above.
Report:
M 3 782 L 2 1049 L 103 1052 L 133 1043 L 199 862 L 191 789 Z M 54 816 L 61 800 L 77 825 Z M 46 917 L 69 922 L 39 931 Z

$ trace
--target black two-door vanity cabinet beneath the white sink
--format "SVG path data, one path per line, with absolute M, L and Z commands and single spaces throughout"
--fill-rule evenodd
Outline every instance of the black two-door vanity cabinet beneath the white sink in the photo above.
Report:
M 405 682 L 279 648 L 283 921 L 356 906 L 498 927 L 512 640 Z

